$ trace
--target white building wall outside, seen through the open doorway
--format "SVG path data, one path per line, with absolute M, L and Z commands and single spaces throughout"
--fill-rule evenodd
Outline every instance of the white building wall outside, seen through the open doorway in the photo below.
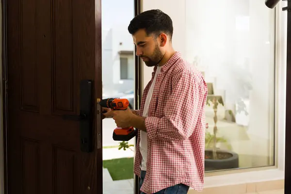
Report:
M 122 44 L 120 44 L 122 43 Z M 121 50 L 133 51 L 132 37 L 126 25 L 102 29 L 102 82 L 103 90 L 108 95 L 133 90 L 134 80 L 120 79 Z M 134 58 L 129 56 L 129 73 L 134 77 Z

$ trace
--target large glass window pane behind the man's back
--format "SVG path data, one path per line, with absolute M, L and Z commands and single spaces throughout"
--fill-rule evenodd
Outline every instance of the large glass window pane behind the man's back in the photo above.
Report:
M 209 87 L 205 170 L 274 165 L 275 11 L 261 0 L 185 7 L 184 56 Z

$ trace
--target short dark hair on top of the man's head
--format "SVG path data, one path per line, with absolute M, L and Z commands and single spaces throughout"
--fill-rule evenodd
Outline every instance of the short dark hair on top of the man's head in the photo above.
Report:
M 129 33 L 133 35 L 140 29 L 145 29 L 146 34 L 158 36 L 161 32 L 170 36 L 173 35 L 173 23 L 170 16 L 159 9 L 148 10 L 135 16 L 129 23 Z

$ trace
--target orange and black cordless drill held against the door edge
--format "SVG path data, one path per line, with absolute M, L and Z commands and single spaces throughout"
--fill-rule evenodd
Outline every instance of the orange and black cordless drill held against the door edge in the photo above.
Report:
M 110 108 L 113 111 L 124 111 L 129 106 L 129 100 L 126 98 L 107 98 L 102 99 L 99 102 L 100 106 L 103 108 Z M 129 141 L 136 135 L 133 127 L 129 128 L 115 128 L 113 130 L 113 140 L 114 141 Z

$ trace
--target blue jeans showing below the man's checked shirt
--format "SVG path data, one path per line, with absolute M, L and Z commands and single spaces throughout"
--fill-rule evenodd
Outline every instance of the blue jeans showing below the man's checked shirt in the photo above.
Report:
M 143 185 L 145 177 L 146 177 L 146 171 L 142 170 L 141 180 L 140 180 L 140 185 L 139 185 L 140 189 Z M 172 187 L 165 188 L 165 189 L 158 191 L 157 193 L 154 193 L 154 194 L 187 194 L 188 190 L 189 190 L 189 186 L 180 183 L 180 184 L 174 185 Z M 141 194 L 145 194 L 145 193 L 141 192 Z

